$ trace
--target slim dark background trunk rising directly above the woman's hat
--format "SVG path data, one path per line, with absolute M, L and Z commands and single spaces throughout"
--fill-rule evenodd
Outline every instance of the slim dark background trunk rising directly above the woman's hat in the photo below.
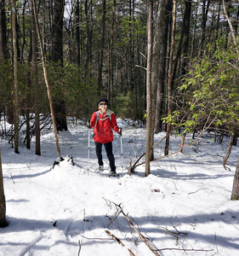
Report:
M 104 45 L 105 45 L 105 0 L 102 1 L 102 18 L 101 18 L 101 44 L 99 55 L 99 68 L 98 68 L 98 95 L 100 96 L 103 90 L 102 72 L 104 60 Z

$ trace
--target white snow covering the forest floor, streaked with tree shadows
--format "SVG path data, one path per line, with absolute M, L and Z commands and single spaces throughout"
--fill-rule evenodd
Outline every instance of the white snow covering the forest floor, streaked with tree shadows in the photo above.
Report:
M 238 255 L 239 201 L 230 201 L 230 195 L 239 147 L 233 147 L 225 170 L 228 138 L 214 143 L 213 134 L 205 133 L 183 153 L 151 162 L 150 176 L 145 177 L 144 165 L 129 176 L 130 158 L 134 164 L 136 155 L 145 152 L 145 127 L 117 122 L 123 128 L 122 155 L 117 134 L 113 143 L 119 178 L 108 177 L 105 148 L 106 170 L 95 172 L 92 133 L 88 159 L 88 129 L 83 123 L 69 123 L 69 131 L 60 132 L 65 160 L 56 166 L 52 131 L 42 135 L 42 156 L 34 154 L 34 141 L 32 149 L 21 147 L 20 154 L 1 141 L 9 226 L 0 229 L 0 256 L 123 256 L 130 255 L 128 249 L 137 256 L 154 255 L 139 234 L 162 256 Z M 155 142 L 164 136 L 156 135 Z M 173 153 L 180 136 L 170 139 Z M 191 140 L 187 137 L 187 143 Z M 155 156 L 162 156 L 163 150 L 164 141 Z M 140 233 L 129 227 L 119 207 Z

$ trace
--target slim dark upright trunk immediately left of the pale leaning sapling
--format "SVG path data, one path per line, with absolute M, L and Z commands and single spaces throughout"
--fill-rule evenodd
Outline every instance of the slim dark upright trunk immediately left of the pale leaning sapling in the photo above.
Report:
M 37 28 L 34 19 L 34 10 L 31 1 L 31 44 L 32 44 L 32 78 L 34 84 L 34 112 L 35 112 L 35 136 L 36 148 L 35 154 L 41 155 L 41 130 L 39 116 L 39 83 L 38 83 L 38 67 L 37 67 Z

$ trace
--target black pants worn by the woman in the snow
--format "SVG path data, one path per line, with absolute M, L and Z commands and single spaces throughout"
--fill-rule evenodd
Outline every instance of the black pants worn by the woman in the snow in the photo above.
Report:
M 98 158 L 98 164 L 99 166 L 103 166 L 103 160 L 102 160 L 102 143 L 96 143 L 95 144 L 95 152 Z M 113 148 L 112 148 L 112 143 L 105 143 L 105 151 L 108 157 L 108 160 L 110 161 L 110 166 L 111 166 L 111 171 L 116 171 L 116 166 L 115 166 L 115 157 L 113 154 Z

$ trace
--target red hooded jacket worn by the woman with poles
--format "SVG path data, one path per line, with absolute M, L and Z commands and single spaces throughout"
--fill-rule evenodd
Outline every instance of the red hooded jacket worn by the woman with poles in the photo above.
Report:
M 99 113 L 99 117 L 96 125 L 96 112 L 92 114 L 90 119 L 90 128 L 94 127 L 94 141 L 96 143 L 110 143 L 114 140 L 113 131 L 119 133 L 116 116 L 110 109 L 107 109 L 106 113 L 101 113 L 100 110 L 97 112 Z

